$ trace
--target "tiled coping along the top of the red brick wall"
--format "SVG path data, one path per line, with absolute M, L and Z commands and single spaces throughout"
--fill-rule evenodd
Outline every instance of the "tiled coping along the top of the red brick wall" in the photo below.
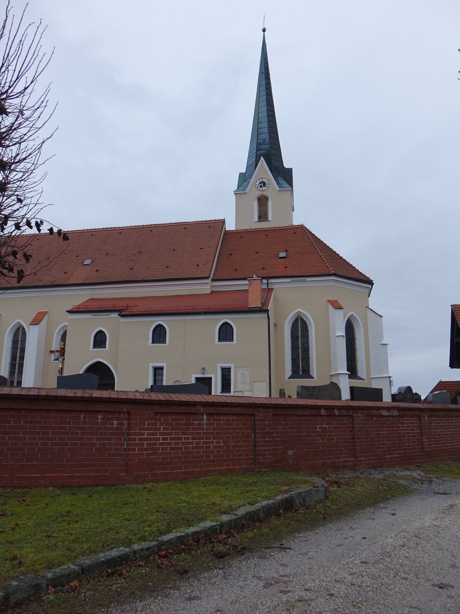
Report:
M 397 410 L 415 411 L 426 413 L 427 411 L 453 411 L 460 412 L 456 405 L 435 405 L 422 403 L 388 403 L 377 401 L 338 401 L 338 400 L 315 400 L 304 398 L 278 398 L 278 397 L 234 397 L 226 395 L 202 395 L 202 394 L 171 394 L 160 392 L 134 392 L 134 391 L 102 391 L 102 390 L 74 390 L 58 388 L 9 388 L 0 387 L 0 407 L 7 402 L 8 398 L 20 398 L 27 400 L 30 397 L 38 401 L 47 399 L 70 401 L 104 400 L 128 405 L 143 405 L 159 401 L 164 405 L 212 405 L 226 406 L 256 406 L 262 408 L 288 408 L 293 409 L 337 409 L 337 410 L 384 410 L 397 413 Z

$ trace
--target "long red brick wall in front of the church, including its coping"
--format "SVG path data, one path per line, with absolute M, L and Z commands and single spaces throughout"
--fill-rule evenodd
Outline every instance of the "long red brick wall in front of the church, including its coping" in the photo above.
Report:
M 460 460 L 455 405 L 139 392 L 0 392 L 0 486 Z

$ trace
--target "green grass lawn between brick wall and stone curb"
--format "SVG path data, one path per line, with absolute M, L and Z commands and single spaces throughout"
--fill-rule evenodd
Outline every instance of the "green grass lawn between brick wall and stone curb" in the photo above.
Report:
M 153 540 L 312 485 L 308 475 L 280 471 L 129 486 L 0 489 L 0 581 Z

